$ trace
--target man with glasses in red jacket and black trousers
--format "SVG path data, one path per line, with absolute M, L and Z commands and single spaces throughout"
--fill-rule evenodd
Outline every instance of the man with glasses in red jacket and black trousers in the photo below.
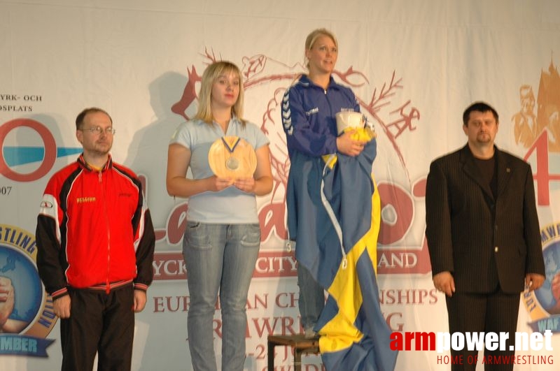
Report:
M 113 163 L 113 120 L 76 117 L 78 161 L 49 180 L 37 218 L 37 268 L 61 318 L 62 370 L 130 370 L 134 312 L 153 279 L 155 233 L 141 183 Z

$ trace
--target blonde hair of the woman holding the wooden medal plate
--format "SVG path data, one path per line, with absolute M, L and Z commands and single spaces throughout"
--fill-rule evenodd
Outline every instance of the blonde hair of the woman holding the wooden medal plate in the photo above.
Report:
M 202 82 L 200 84 L 200 92 L 198 94 L 198 108 L 195 119 L 201 119 L 207 124 L 214 122 L 212 115 L 212 86 L 221 75 L 229 75 L 234 73 L 239 78 L 239 96 L 237 101 L 232 106 L 232 117 L 237 117 L 242 124 L 245 124 L 243 119 L 243 78 L 239 68 L 232 64 L 230 61 L 216 61 L 209 65 L 204 73 L 202 73 Z

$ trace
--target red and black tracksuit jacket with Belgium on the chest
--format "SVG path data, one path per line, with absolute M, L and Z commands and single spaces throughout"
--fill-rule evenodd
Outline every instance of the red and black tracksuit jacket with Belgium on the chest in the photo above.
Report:
M 83 156 L 49 180 L 37 218 L 37 268 L 52 298 L 153 279 L 155 234 L 141 183 L 111 157 L 101 171 Z

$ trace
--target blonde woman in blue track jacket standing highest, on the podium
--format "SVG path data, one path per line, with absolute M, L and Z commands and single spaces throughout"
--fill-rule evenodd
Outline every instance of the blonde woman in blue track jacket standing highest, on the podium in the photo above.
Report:
M 339 85 L 332 78 L 337 57 L 338 43 L 332 32 L 327 29 L 312 31 L 305 41 L 309 73 L 294 82 L 282 101 L 282 124 L 290 157 L 286 194 L 288 232 L 290 240 L 296 242 L 297 285 L 300 287 L 298 303 L 304 335 L 308 338 L 316 336 L 314 327 L 325 303 L 323 287 L 311 273 L 321 269 L 318 266 L 319 256 L 313 256 L 306 249 L 308 245 L 316 244 L 317 238 L 320 240 L 321 226 L 325 222 L 330 223 L 314 219 L 313 212 L 313 208 L 321 205 L 323 156 L 341 153 L 356 157 L 365 146 L 364 141 L 351 138 L 352 131 L 337 136 L 336 113 L 360 112 L 351 89 Z M 309 178 L 316 180 L 316 184 L 307 181 L 309 173 L 312 174 Z M 309 194 L 302 197 L 302 192 Z M 298 222 L 300 232 L 302 224 L 305 224 L 305 233 L 297 233 Z

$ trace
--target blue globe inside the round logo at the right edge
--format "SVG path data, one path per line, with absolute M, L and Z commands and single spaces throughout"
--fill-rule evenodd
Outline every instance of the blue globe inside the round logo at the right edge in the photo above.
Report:
M 547 277 L 540 289 L 535 290 L 535 296 L 549 314 L 560 314 L 560 303 L 558 303 L 558 298 L 554 298 L 552 292 L 552 280 L 556 275 L 560 275 L 560 242 L 556 241 L 549 245 L 542 255 L 545 258 Z

